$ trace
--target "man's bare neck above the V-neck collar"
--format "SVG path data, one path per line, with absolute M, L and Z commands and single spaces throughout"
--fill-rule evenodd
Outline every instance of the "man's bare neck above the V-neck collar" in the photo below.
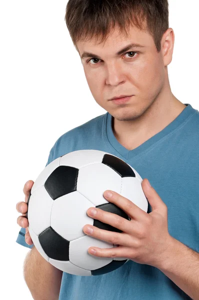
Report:
M 140 116 L 127 121 L 112 117 L 112 130 L 120 144 L 132 150 L 160 132 L 186 107 L 170 91 L 156 98 Z

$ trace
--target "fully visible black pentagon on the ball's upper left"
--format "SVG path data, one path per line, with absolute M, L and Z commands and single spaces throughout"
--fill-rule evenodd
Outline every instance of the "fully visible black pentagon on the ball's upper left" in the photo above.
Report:
M 75 167 L 60 165 L 51 172 L 44 187 L 53 200 L 76 190 L 78 171 Z

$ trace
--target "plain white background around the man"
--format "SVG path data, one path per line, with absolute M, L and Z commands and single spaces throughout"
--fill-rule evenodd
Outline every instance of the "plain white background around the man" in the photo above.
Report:
M 103 114 L 64 22 L 66 0 L 0 1 L 1 299 L 32 299 L 23 279 L 28 248 L 15 242 L 24 183 L 44 168 L 64 132 Z M 197 6 L 197 7 L 196 7 Z M 198 3 L 170 0 L 173 94 L 198 109 Z

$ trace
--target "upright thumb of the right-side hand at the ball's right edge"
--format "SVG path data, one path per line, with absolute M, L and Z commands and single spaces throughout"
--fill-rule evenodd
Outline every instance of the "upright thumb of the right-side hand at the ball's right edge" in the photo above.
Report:
M 144 178 L 142 180 L 141 187 L 152 208 L 152 211 L 154 209 L 162 211 L 162 209 L 166 208 L 166 204 L 162 201 L 156 190 L 152 186 L 150 186 L 148 179 Z

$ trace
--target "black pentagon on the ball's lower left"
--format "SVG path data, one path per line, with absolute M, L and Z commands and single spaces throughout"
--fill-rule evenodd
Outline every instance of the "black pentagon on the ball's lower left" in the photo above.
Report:
M 38 240 L 48 257 L 56 260 L 69 260 L 69 241 L 60 236 L 51 226 L 38 235 Z

